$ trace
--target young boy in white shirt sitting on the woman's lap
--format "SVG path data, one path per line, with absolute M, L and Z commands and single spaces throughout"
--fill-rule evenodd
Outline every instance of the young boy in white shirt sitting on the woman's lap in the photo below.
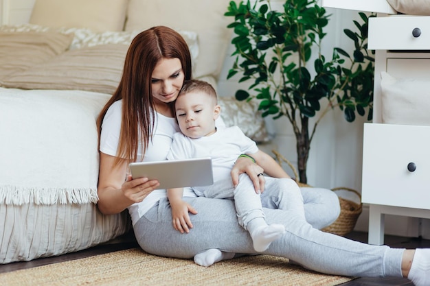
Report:
M 168 159 L 212 158 L 214 184 L 192 189 L 196 195 L 207 198 L 234 199 L 238 222 L 249 231 L 257 252 L 269 248 L 271 242 L 285 232 L 282 224 L 267 224 L 261 200 L 273 200 L 275 196 L 276 200 L 272 202 L 275 208 L 298 211 L 304 217 L 303 198 L 299 187 L 282 167 L 271 156 L 258 150 L 256 143 L 245 136 L 237 126 L 216 128 L 215 121 L 220 115 L 220 106 L 217 104 L 216 92 L 210 84 L 199 80 L 185 82 L 174 110 L 181 132 L 174 134 Z M 267 174 L 278 178 L 264 177 L 266 191 L 261 198 L 260 194 L 253 191 L 253 183 L 247 174 L 240 175 L 236 187 L 231 182 L 231 167 L 240 154 L 251 155 Z M 172 224 L 181 233 L 188 233 L 189 228 L 192 228 L 188 213 L 195 214 L 196 211 L 182 200 L 182 195 L 182 188 L 168 189 Z

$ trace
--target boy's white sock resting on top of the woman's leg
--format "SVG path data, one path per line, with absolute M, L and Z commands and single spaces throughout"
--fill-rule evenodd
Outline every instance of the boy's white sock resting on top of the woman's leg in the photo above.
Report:
M 260 226 L 251 233 L 254 249 L 262 252 L 269 248 L 270 243 L 282 237 L 285 233 L 285 227 L 282 224 L 270 224 L 269 226 Z

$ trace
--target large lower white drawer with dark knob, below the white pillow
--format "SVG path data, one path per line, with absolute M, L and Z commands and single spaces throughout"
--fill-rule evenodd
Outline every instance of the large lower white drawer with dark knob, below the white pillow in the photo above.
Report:
M 429 146 L 430 126 L 365 123 L 362 202 L 430 209 Z

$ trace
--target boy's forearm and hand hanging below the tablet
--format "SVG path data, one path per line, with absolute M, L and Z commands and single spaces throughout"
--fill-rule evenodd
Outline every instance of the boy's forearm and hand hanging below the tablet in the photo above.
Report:
M 175 188 L 167 190 L 167 198 L 172 207 L 172 225 L 175 230 L 181 233 L 190 233 L 192 222 L 190 215 L 196 215 L 197 211 L 187 202 L 182 200 L 183 188 Z

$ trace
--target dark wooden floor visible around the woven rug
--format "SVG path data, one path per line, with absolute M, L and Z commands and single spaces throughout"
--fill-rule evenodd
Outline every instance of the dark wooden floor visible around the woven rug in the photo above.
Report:
M 346 237 L 361 242 L 367 243 L 367 233 L 352 232 Z M 391 235 L 385 235 L 385 244 L 396 248 L 430 248 L 430 240 L 410 238 L 410 237 L 395 237 Z M 11 272 L 14 270 L 27 269 L 31 267 L 47 265 L 51 263 L 58 263 L 63 261 L 69 261 L 73 259 L 81 259 L 84 257 L 90 257 L 93 255 L 104 254 L 108 252 L 114 252 L 117 250 L 124 250 L 128 248 L 138 247 L 133 234 L 129 233 L 111 241 L 110 243 L 104 243 L 100 246 L 95 246 L 87 250 L 79 252 L 73 252 L 69 254 L 63 254 L 59 257 L 49 257 L 44 259 L 35 259 L 29 262 L 16 262 L 5 265 L 0 265 L 0 273 Z M 357 278 L 353 281 L 343 283 L 341 286 L 414 286 L 408 279 L 405 278 Z

